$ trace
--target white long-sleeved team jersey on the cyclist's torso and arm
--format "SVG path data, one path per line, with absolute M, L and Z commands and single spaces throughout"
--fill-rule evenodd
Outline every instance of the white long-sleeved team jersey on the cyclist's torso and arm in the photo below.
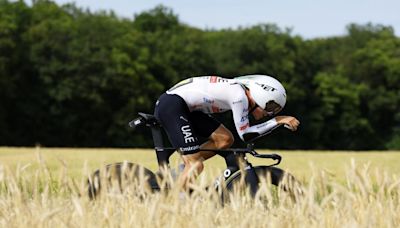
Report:
M 236 131 L 242 140 L 267 133 L 278 124 L 275 118 L 250 126 L 249 101 L 245 88 L 235 79 L 218 76 L 194 77 L 183 80 L 167 91 L 185 100 L 189 110 L 204 113 L 232 111 Z

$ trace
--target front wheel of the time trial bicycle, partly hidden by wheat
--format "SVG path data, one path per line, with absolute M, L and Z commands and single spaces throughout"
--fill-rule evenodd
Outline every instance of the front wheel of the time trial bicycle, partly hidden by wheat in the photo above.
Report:
M 261 190 L 265 190 L 263 187 L 269 187 L 269 193 L 272 193 L 273 198 L 277 199 L 280 192 L 289 194 L 291 198 L 296 199 L 302 194 L 301 184 L 296 178 L 288 172 L 282 169 L 271 167 L 271 166 L 256 166 L 253 167 L 257 177 L 255 178 L 258 183 L 253 184 L 256 186 L 256 194 L 261 195 Z M 247 170 L 246 174 L 250 173 L 251 170 Z M 246 175 L 243 175 L 243 171 L 237 171 L 231 177 L 226 180 L 225 188 L 222 191 L 222 200 L 227 202 L 234 193 L 240 193 L 249 191 L 250 183 L 246 182 Z M 266 186 L 263 186 L 265 184 Z M 254 196 L 253 195 L 253 196 Z

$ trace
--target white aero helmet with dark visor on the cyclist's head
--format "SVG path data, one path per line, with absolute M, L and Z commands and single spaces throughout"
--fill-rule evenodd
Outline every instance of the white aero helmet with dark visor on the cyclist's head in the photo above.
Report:
M 286 90 L 275 78 L 267 75 L 247 75 L 235 78 L 250 90 L 256 104 L 267 112 L 278 113 L 286 104 Z

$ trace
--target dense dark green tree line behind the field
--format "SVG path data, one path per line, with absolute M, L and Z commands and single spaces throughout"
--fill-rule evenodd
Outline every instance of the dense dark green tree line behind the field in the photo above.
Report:
M 390 26 L 346 29 L 303 39 L 275 24 L 198 29 L 162 5 L 129 19 L 0 0 L 0 145 L 150 147 L 150 132 L 127 122 L 178 81 L 267 74 L 301 127 L 261 147 L 400 149 L 400 38 Z M 217 118 L 233 129 L 229 114 Z

